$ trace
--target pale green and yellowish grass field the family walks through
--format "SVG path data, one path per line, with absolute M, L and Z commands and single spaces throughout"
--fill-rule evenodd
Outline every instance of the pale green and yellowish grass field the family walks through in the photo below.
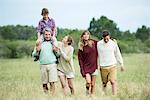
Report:
M 125 72 L 118 69 L 117 97 L 108 94 L 102 96 L 101 78 L 97 76 L 95 95 L 92 100 L 150 100 L 150 54 L 124 54 Z M 76 77 L 75 96 L 64 97 L 60 82 L 56 84 L 56 95 L 46 95 L 42 91 L 38 62 L 31 58 L 0 59 L 0 100 L 86 100 L 85 80 L 79 72 L 79 65 L 74 60 Z M 69 92 L 69 91 L 68 91 Z

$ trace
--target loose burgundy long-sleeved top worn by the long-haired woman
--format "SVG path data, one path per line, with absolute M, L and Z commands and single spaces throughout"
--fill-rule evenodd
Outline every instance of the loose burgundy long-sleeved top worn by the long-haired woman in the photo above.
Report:
M 97 41 L 93 40 L 93 46 L 84 46 L 83 51 L 78 50 L 78 60 L 80 65 L 80 72 L 83 77 L 87 73 L 92 74 L 97 69 Z

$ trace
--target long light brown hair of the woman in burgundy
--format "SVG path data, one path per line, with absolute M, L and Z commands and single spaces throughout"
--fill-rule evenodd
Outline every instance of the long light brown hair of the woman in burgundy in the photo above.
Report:
M 91 39 L 91 34 L 90 34 L 90 32 L 87 31 L 87 30 L 83 31 L 82 34 L 81 34 L 81 37 L 80 37 L 80 42 L 79 42 L 79 49 L 82 50 L 82 51 L 83 51 L 83 47 L 86 46 L 85 40 L 83 39 L 83 35 L 85 35 L 86 33 L 88 33 L 88 35 L 89 35 L 89 39 L 88 39 L 88 41 L 87 41 L 87 45 L 88 45 L 89 47 L 92 47 L 92 46 L 93 46 L 93 43 L 94 43 L 93 40 Z

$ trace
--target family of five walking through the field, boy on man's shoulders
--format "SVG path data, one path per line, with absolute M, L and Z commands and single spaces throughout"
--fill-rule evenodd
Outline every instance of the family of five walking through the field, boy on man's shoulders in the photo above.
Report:
M 69 87 L 72 95 L 77 92 L 74 87 L 75 69 L 73 65 L 74 48 L 73 39 L 69 35 L 62 41 L 56 39 L 56 25 L 54 19 L 48 16 L 48 9 L 43 8 L 37 27 L 36 47 L 32 55 L 35 61 L 40 62 L 40 71 L 43 90 L 55 94 L 55 84 L 58 78 L 64 95 L 67 95 Z M 96 77 L 100 71 L 103 93 L 106 93 L 107 83 L 110 81 L 112 94 L 116 94 L 117 64 L 124 71 L 123 59 L 118 44 L 111 39 L 107 30 L 102 32 L 102 40 L 91 39 L 89 31 L 84 31 L 78 44 L 78 62 L 80 72 L 85 79 L 85 93 L 88 96 L 94 94 Z M 48 89 L 50 85 L 50 89 Z

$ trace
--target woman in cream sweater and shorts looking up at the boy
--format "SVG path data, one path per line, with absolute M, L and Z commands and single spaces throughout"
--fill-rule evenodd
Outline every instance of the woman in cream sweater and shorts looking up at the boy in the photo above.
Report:
M 58 42 L 59 53 L 57 54 L 60 55 L 60 58 L 58 59 L 57 70 L 64 95 L 67 95 L 67 86 L 69 86 L 71 94 L 74 95 L 73 80 L 75 71 L 73 66 L 74 48 L 71 46 L 72 42 L 73 39 L 70 36 L 65 36 L 62 42 Z

